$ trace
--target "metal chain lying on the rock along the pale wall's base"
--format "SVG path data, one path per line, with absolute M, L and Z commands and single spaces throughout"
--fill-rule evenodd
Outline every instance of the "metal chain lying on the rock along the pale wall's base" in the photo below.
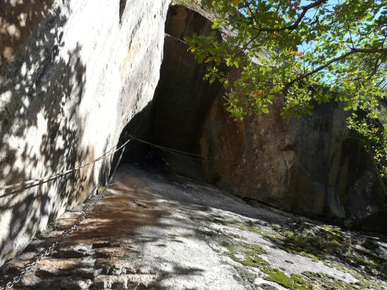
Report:
M 51 244 L 51 246 L 49 246 L 49 247 L 45 248 L 44 250 L 40 251 L 40 253 L 37 254 L 37 256 L 35 256 L 35 258 L 32 261 L 30 261 L 29 263 L 26 263 L 22 267 L 22 270 L 20 270 L 19 275 L 13 277 L 8 283 L 5 284 L 5 286 L 1 287 L 0 290 L 11 289 L 16 283 L 20 282 L 20 280 L 25 275 L 27 275 L 30 272 L 33 272 L 34 267 L 36 267 L 37 264 L 41 260 L 43 260 L 44 258 L 49 256 L 53 252 L 53 250 L 58 246 L 58 244 L 61 244 L 72 232 L 75 231 L 75 229 L 77 229 L 77 227 L 80 225 L 80 223 L 89 215 L 91 210 L 93 210 L 94 207 L 96 206 L 96 204 L 101 200 L 101 198 L 102 198 L 103 194 L 105 193 L 106 189 L 108 189 L 109 183 L 112 181 L 112 179 L 113 179 L 113 177 L 115 175 L 115 172 L 117 171 L 118 165 L 120 165 L 121 158 L 122 158 L 122 155 L 124 154 L 124 151 L 125 151 L 125 146 L 122 147 L 120 158 L 118 158 L 118 162 L 115 165 L 115 168 L 113 170 L 113 174 L 111 175 L 110 179 L 108 180 L 108 182 L 106 184 L 106 187 L 103 189 L 103 191 L 101 191 L 101 193 L 98 194 L 98 196 L 97 196 L 96 200 L 94 201 L 94 203 L 91 203 L 91 205 L 89 205 L 89 206 L 85 206 L 84 210 L 82 211 L 82 215 L 78 218 L 77 222 L 75 222 L 75 224 L 72 225 L 72 227 L 70 227 L 70 229 L 67 229 L 65 232 L 63 232 L 61 237 L 59 237 L 59 239 L 55 243 Z

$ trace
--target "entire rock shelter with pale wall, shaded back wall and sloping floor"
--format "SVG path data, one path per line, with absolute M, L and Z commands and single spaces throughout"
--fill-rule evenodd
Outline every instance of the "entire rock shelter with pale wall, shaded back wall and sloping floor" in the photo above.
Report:
M 387 187 L 341 105 L 231 118 L 185 42 L 211 31 L 169 0 L 1 1 L 0 289 L 387 289 Z

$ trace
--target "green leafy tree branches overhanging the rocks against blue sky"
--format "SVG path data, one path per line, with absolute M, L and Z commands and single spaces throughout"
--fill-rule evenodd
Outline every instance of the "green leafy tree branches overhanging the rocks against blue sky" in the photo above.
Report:
M 227 109 L 236 118 L 269 113 L 300 116 L 336 101 L 347 125 L 387 171 L 386 6 L 379 0 L 208 0 L 214 30 L 224 40 L 186 37 L 205 63 L 210 82 L 227 88 Z M 229 69 L 240 75 L 231 82 Z

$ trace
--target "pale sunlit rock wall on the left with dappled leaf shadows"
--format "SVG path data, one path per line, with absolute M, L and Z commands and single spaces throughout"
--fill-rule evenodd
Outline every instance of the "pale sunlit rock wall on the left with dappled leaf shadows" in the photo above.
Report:
M 168 5 L 1 1 L 0 186 L 89 163 L 117 143 L 156 89 Z M 106 180 L 110 161 L 1 191 L 0 265 Z

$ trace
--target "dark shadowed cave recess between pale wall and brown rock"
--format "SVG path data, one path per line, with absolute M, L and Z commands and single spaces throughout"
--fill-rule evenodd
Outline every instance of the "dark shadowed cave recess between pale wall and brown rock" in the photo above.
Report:
M 200 139 L 203 124 L 209 118 L 215 99 L 222 93 L 222 86 L 203 80 L 205 68 L 188 51 L 184 37 L 193 33 L 208 34 L 211 25 L 200 13 L 184 6 L 170 6 L 158 87 L 153 100 L 122 130 L 120 143 L 132 135 L 173 150 L 132 140 L 125 149 L 122 163 L 151 161 L 182 175 L 205 178 Z

